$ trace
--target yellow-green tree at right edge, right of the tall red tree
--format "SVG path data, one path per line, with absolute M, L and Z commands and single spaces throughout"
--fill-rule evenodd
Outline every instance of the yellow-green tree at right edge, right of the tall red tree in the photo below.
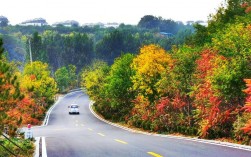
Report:
M 244 104 L 241 92 L 245 88 L 243 79 L 251 76 L 250 34 L 250 26 L 235 24 L 227 26 L 213 39 L 214 49 L 227 58 L 224 66 L 216 69 L 212 75 L 213 87 L 231 104 L 241 106 Z

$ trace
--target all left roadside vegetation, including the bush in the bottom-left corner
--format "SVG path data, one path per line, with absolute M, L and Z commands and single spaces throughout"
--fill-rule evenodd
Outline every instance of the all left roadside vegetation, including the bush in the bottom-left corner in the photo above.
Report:
M 41 123 L 45 111 L 54 102 L 56 82 L 47 64 L 29 63 L 20 72 L 3 53 L 0 39 L 0 156 L 33 156 L 33 141 L 17 138 L 17 129 Z

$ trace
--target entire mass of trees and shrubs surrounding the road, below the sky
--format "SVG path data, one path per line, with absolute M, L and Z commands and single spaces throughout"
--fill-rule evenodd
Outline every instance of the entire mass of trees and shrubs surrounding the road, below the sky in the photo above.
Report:
M 118 28 L 1 26 L 0 133 L 41 124 L 57 93 L 81 85 L 106 119 L 249 144 L 250 41 L 250 0 L 226 0 L 208 26 L 151 15 Z

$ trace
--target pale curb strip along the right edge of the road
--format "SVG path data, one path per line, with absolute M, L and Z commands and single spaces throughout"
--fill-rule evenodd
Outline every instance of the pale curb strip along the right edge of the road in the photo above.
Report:
M 149 133 L 149 132 L 144 132 L 144 131 L 138 131 L 134 130 L 116 123 L 112 123 L 110 121 L 105 120 L 104 118 L 100 117 L 95 111 L 92 109 L 93 101 L 89 103 L 89 109 L 91 113 L 98 118 L 99 120 L 110 124 L 112 126 L 121 128 L 123 130 L 133 132 L 133 133 L 139 133 L 139 134 L 144 134 L 144 135 L 149 135 L 149 136 L 158 136 L 158 137 L 165 137 L 165 138 L 173 138 L 173 139 L 180 139 L 180 140 L 187 140 L 187 141 L 194 141 L 194 142 L 200 142 L 200 143 L 206 143 L 206 144 L 212 144 L 212 145 L 218 145 L 218 146 L 223 146 L 223 147 L 230 147 L 230 148 L 235 148 L 235 149 L 241 149 L 241 150 L 246 150 L 251 152 L 251 146 L 247 145 L 241 145 L 241 144 L 235 144 L 235 143 L 229 143 L 229 142 L 221 142 L 221 141 L 215 141 L 215 140 L 206 140 L 206 139 L 198 139 L 198 138 L 190 138 L 190 137 L 182 137 L 182 136 L 174 136 L 174 135 L 162 135 L 162 134 L 156 134 L 156 133 Z

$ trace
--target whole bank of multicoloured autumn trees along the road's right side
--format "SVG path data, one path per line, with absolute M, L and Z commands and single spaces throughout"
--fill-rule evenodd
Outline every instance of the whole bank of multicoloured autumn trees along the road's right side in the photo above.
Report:
M 251 139 L 251 2 L 227 0 L 185 44 L 94 62 L 82 86 L 106 119 L 159 133 Z M 131 55 L 134 54 L 134 55 Z

